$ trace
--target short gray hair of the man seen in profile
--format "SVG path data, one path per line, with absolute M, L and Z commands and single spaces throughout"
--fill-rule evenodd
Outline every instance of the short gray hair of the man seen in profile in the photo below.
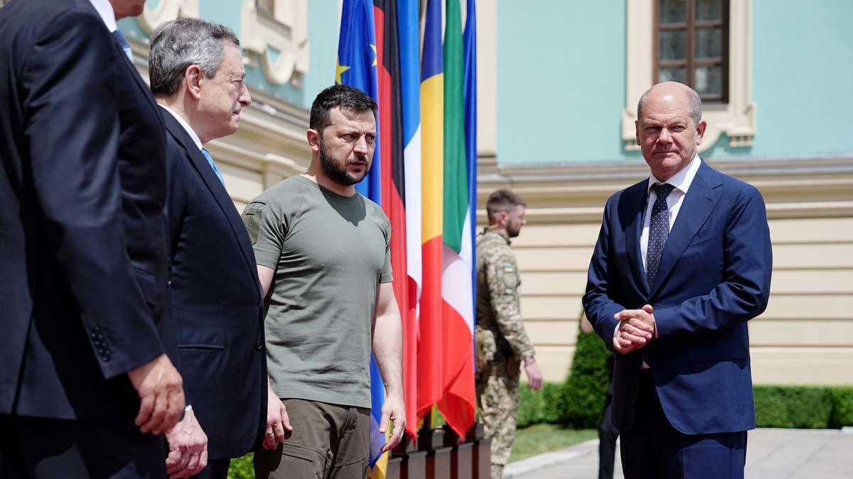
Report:
M 177 93 L 191 65 L 198 65 L 206 78 L 213 78 L 222 63 L 223 42 L 240 46 L 227 26 L 194 18 L 161 23 L 151 34 L 148 53 L 151 92 L 157 96 Z

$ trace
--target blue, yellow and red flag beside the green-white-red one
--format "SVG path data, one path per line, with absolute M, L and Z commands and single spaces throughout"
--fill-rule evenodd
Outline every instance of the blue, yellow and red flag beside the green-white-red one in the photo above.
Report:
M 441 0 L 427 0 L 421 56 L 421 314 L 418 321 L 417 417 L 444 391 L 441 271 L 444 228 L 444 61 Z

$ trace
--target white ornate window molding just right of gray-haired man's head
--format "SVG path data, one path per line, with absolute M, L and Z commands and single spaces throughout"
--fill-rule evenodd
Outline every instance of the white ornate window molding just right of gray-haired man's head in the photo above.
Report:
M 255 0 L 243 0 L 241 45 L 258 61 L 271 84 L 301 86 L 308 72 L 308 2 L 276 0 L 274 16 L 258 12 Z

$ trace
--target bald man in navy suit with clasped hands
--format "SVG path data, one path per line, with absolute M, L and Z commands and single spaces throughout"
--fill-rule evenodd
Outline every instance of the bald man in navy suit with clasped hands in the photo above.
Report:
M 755 427 L 746 321 L 772 257 L 757 189 L 696 153 L 699 95 L 655 85 L 636 137 L 652 175 L 607 200 L 583 306 L 615 350 L 613 419 L 627 478 L 743 477 Z

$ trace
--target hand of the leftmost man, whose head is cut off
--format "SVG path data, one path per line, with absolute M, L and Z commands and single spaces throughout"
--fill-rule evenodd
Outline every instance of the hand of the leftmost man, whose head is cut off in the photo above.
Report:
M 160 434 L 175 427 L 183 413 L 183 378 L 168 356 L 159 355 L 127 373 L 139 394 L 134 423 L 143 433 Z

